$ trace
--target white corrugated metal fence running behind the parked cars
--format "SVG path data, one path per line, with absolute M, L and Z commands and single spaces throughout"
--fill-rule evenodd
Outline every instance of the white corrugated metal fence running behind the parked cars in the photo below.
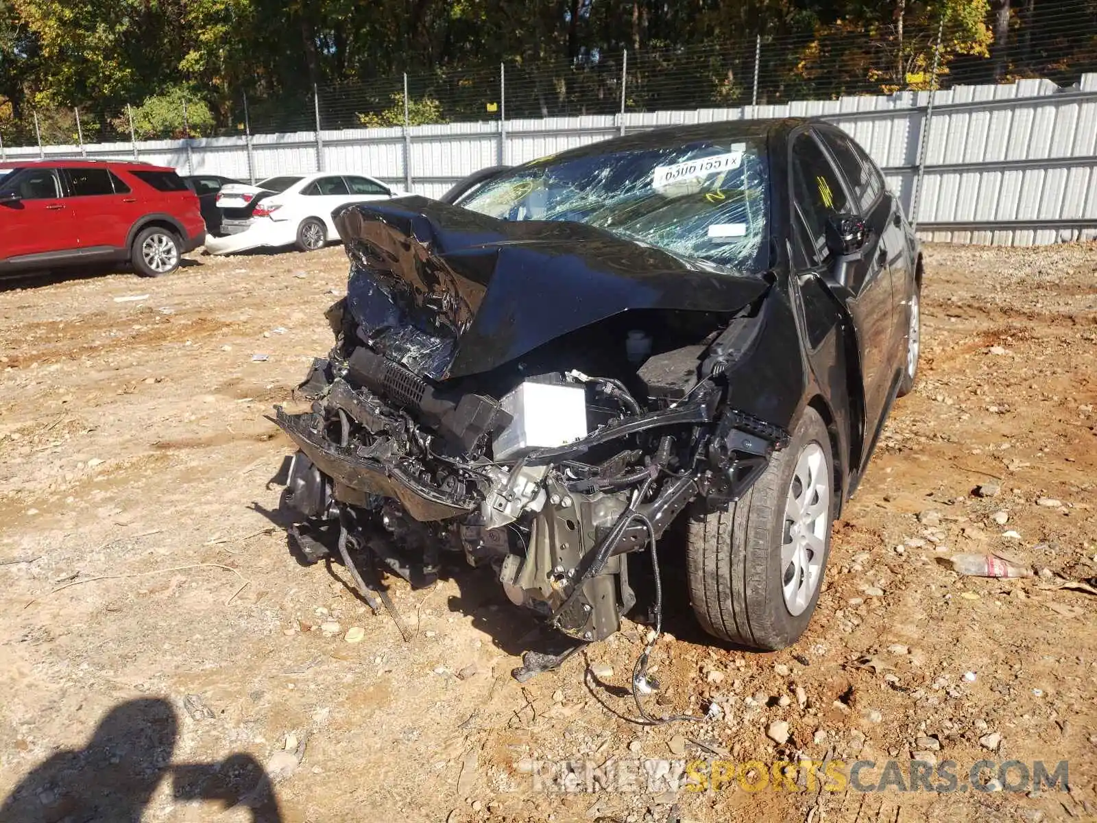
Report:
M 1083 76 L 1071 89 L 1049 80 L 954 86 L 937 92 L 927 120 L 929 102 L 930 92 L 905 91 L 730 109 L 86 144 L 82 150 L 92 159 L 136 155 L 181 173 L 240 180 L 320 169 L 360 171 L 439 196 L 477 169 L 527 162 L 621 133 L 723 120 L 824 116 L 884 169 L 887 185 L 908 212 L 917 198 L 917 222 L 926 238 L 1030 245 L 1097 236 L 1097 74 Z M 72 145 L 5 150 L 9 160 L 80 154 Z M 916 194 L 919 158 L 924 168 Z

